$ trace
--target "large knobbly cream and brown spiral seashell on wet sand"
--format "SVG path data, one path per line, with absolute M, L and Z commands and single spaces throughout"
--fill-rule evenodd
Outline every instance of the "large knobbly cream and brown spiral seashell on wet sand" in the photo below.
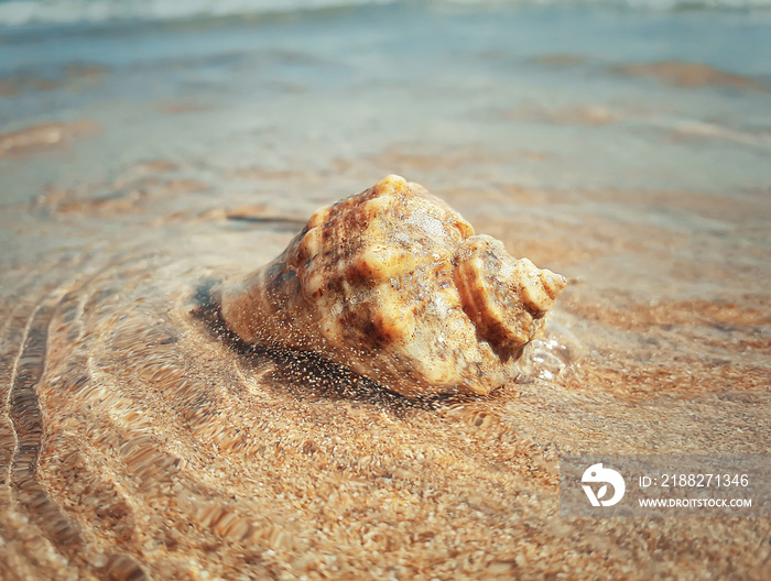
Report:
M 414 397 L 514 381 L 565 284 L 391 175 L 318 209 L 278 259 L 220 297 L 242 340 L 314 351 Z

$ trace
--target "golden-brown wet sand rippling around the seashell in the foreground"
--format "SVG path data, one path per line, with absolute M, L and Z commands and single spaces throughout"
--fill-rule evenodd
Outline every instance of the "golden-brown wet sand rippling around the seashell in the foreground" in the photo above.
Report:
M 734 211 L 686 233 L 653 223 L 655 195 L 439 191 L 572 278 L 554 319 L 576 342 L 554 381 L 410 401 L 222 329 L 207 289 L 272 257 L 297 216 L 222 207 L 177 172 L 127 171 L 154 194 L 117 206 L 4 215 L 25 249 L 2 273 L 4 579 L 763 578 L 764 518 L 560 517 L 558 456 L 768 452 L 771 256 L 742 244 L 771 217 L 764 193 L 682 198 L 669 211 L 695 224 Z M 650 220 L 589 219 L 591 204 Z

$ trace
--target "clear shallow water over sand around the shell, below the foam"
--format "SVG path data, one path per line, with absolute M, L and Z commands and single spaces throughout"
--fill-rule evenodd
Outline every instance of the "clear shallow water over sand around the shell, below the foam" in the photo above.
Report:
M 557 461 L 769 452 L 770 29 L 437 2 L 2 31 L 2 577 L 761 579 L 768 519 L 561 518 Z M 567 368 L 411 402 L 202 313 L 389 173 L 569 277 Z

